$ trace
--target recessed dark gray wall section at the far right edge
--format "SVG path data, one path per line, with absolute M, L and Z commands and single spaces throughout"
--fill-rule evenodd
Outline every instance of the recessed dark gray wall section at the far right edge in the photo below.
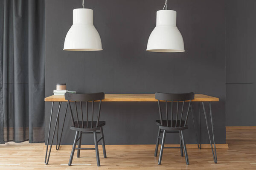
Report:
M 227 126 L 255 126 L 256 1 L 226 0 Z

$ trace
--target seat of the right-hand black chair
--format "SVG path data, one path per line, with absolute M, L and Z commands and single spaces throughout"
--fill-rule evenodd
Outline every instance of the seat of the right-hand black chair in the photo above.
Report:
M 180 124 L 180 120 L 177 120 L 177 127 L 175 127 L 176 125 L 176 120 L 169 120 L 168 121 L 168 126 L 167 126 L 167 122 L 166 120 L 163 120 L 163 125 L 161 125 L 161 121 L 160 120 L 156 120 L 156 124 L 157 126 L 160 126 L 161 129 L 166 129 L 166 130 L 184 130 L 187 129 L 188 126 L 184 126 L 185 125 L 185 121 L 181 121 Z

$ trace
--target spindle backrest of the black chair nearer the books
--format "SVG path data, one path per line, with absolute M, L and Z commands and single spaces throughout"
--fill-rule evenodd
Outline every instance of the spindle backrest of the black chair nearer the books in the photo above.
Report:
M 71 113 L 71 119 L 72 119 L 72 125 L 75 126 L 75 120 L 73 117 L 73 112 L 71 109 L 70 102 L 75 103 L 75 110 L 76 110 L 76 119 L 77 119 L 77 126 L 79 128 L 93 128 L 93 113 L 94 113 L 94 102 L 99 101 L 99 110 L 98 110 L 98 115 L 96 119 L 96 127 L 99 126 L 99 117 L 100 117 L 100 111 L 101 111 L 101 102 L 102 99 L 105 99 L 105 94 L 103 92 L 101 93 L 93 93 L 93 94 L 72 94 L 72 93 L 65 93 L 65 99 L 68 101 L 68 105 L 70 108 L 70 113 Z M 79 123 L 79 116 L 78 116 L 78 111 L 77 111 L 77 102 L 80 103 L 80 110 L 81 110 L 81 126 Z M 82 102 L 86 102 L 86 127 L 84 127 L 84 116 L 83 116 L 83 107 L 82 107 Z M 89 112 L 88 112 L 88 102 L 92 102 L 92 115 L 91 115 L 91 126 L 89 127 Z

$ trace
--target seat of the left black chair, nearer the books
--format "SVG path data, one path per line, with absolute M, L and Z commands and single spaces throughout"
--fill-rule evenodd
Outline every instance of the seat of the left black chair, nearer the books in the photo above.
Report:
M 105 121 L 99 121 L 99 126 L 96 127 L 97 121 L 93 121 L 93 127 L 92 127 L 92 121 L 88 121 L 88 128 L 87 128 L 87 121 L 79 121 L 79 127 L 78 122 L 75 121 L 75 127 L 71 126 L 70 129 L 72 130 L 79 130 L 79 131 L 93 131 L 93 130 L 99 130 L 100 127 L 106 125 Z M 83 128 L 84 124 L 84 128 Z

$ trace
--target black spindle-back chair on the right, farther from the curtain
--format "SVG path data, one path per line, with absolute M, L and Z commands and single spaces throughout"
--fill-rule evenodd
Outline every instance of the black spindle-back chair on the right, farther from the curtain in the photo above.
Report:
M 156 149 L 155 149 L 154 156 L 157 156 L 159 139 L 161 138 L 160 134 L 163 133 L 163 139 L 162 139 L 158 164 L 161 164 L 164 148 L 180 148 L 181 156 L 183 156 L 183 150 L 184 150 L 186 164 L 189 164 L 189 158 L 188 158 L 188 154 L 187 154 L 187 150 L 186 150 L 186 142 L 184 140 L 183 130 L 188 128 L 188 126 L 186 124 L 187 124 L 187 119 L 188 119 L 188 115 L 189 115 L 189 108 L 191 107 L 191 100 L 194 99 L 194 96 L 195 96 L 194 93 L 185 93 L 185 94 L 156 93 L 155 94 L 155 99 L 158 100 L 160 120 L 156 120 L 156 124 L 158 125 L 159 128 L 158 128 L 157 143 L 156 143 Z M 163 118 L 162 118 L 160 101 L 165 101 L 165 110 L 166 110 L 165 111 L 166 112 L 165 120 L 163 120 Z M 189 101 L 189 102 L 185 102 L 185 101 Z M 169 119 L 169 115 L 168 115 L 168 103 L 169 102 L 171 102 L 171 119 Z M 173 105 L 174 105 L 173 103 L 175 103 L 175 102 L 177 103 L 177 110 L 176 110 L 176 116 L 173 116 Z M 179 111 L 180 110 L 179 109 L 180 102 L 182 102 L 181 111 Z M 185 106 L 185 105 L 187 105 L 186 103 L 188 103 L 187 109 Z M 183 114 L 184 111 L 185 111 L 185 115 Z M 180 112 L 180 116 L 179 116 L 179 112 Z M 179 133 L 180 147 L 164 147 L 166 133 Z

